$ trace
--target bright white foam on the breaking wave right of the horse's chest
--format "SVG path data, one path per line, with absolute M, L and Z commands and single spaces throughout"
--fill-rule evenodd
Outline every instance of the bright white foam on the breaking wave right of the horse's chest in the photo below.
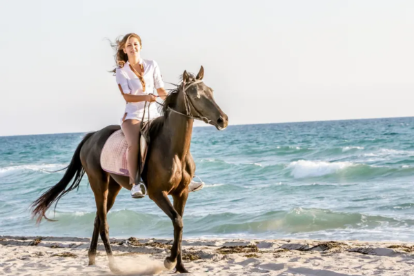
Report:
M 331 175 L 339 170 L 355 166 L 351 162 L 326 162 L 326 161 L 308 161 L 299 160 L 291 162 L 287 168 L 292 170 L 290 175 L 295 178 L 320 177 L 322 175 Z

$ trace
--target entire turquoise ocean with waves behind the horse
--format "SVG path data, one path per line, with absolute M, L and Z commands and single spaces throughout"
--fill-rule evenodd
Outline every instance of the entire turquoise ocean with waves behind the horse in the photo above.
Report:
M 57 221 L 36 226 L 30 204 L 63 172 L 84 133 L 0 137 L 0 235 L 91 237 L 95 199 L 84 177 Z M 414 240 L 414 118 L 319 121 L 193 130 L 196 174 L 184 239 Z M 52 208 L 51 208 L 52 209 Z M 110 237 L 172 238 L 148 199 L 121 190 Z

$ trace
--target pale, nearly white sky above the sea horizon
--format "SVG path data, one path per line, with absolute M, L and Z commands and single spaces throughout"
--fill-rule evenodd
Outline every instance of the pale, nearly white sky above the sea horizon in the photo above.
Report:
M 0 0 L 0 136 L 119 124 L 108 39 L 128 32 L 164 81 L 204 66 L 230 125 L 414 116 L 413 14 L 398 0 Z

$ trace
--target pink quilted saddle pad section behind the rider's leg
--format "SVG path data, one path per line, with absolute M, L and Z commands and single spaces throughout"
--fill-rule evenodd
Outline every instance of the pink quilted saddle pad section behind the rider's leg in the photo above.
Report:
M 106 140 L 101 152 L 101 167 L 106 172 L 129 176 L 126 155 L 128 144 L 122 130 L 117 130 Z

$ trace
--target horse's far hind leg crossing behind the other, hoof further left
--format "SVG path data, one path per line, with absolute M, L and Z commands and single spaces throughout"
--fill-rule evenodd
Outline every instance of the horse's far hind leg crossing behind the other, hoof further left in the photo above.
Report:
M 115 203 L 115 198 L 117 197 L 119 190 L 121 190 L 121 186 L 117 184 L 117 181 L 110 177 L 109 185 L 108 185 L 108 199 L 106 202 L 106 211 L 109 212 L 110 208 Z M 95 257 L 97 255 L 97 246 L 98 246 L 98 238 L 99 238 L 99 227 L 101 225 L 101 221 L 99 220 L 98 213 L 95 217 L 95 223 L 93 228 L 92 239 L 90 241 L 90 247 L 88 251 L 89 257 L 89 266 L 95 264 Z

